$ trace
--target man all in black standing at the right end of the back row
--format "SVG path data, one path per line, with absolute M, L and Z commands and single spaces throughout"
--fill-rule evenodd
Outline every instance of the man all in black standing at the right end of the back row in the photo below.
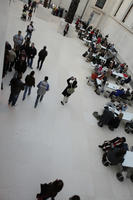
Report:
M 38 53 L 38 64 L 37 64 L 37 69 L 41 70 L 43 62 L 48 55 L 48 52 L 46 51 L 46 46 L 43 47 L 43 49 Z M 40 64 L 41 63 L 41 64 Z

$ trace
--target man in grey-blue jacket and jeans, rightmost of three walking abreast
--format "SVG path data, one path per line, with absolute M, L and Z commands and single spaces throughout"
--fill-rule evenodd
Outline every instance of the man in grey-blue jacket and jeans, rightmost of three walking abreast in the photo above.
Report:
M 34 108 L 37 107 L 39 100 L 40 100 L 40 102 L 43 100 L 44 95 L 49 90 L 48 77 L 45 76 L 44 80 L 40 81 L 40 83 L 37 85 L 37 87 L 38 87 L 37 98 L 36 98 L 36 101 L 35 101 Z

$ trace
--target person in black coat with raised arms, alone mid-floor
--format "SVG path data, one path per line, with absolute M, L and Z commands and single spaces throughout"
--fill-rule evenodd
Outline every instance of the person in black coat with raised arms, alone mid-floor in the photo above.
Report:
M 75 92 L 75 88 L 77 87 L 77 79 L 73 76 L 69 79 L 67 79 L 68 86 L 66 89 L 62 92 L 64 99 L 61 101 L 61 104 L 64 105 L 68 102 L 68 98 Z

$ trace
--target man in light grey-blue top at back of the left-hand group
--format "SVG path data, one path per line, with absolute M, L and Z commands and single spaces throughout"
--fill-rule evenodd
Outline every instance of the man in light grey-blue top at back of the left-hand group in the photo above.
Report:
M 13 36 L 14 41 L 14 49 L 18 51 L 23 44 L 23 36 L 21 35 L 21 31 L 18 31 L 18 34 Z

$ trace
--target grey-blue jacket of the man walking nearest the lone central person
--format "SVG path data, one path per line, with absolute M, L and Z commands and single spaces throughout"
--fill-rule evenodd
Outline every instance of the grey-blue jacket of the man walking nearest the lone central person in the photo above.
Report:
M 47 81 L 41 81 L 38 85 L 37 95 L 43 96 L 46 91 L 49 90 L 49 84 Z

